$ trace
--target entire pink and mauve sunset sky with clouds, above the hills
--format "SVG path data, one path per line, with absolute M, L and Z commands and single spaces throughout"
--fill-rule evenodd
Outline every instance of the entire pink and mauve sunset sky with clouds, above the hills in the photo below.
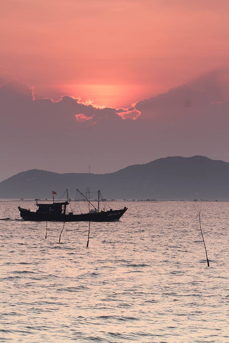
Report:
M 0 180 L 229 161 L 229 2 L 0 2 Z

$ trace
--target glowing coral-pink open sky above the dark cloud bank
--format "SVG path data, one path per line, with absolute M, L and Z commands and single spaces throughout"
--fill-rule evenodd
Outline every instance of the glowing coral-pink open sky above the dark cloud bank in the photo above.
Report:
M 37 97 L 127 107 L 228 66 L 226 0 L 8 0 L 0 7 L 1 76 L 35 87 Z

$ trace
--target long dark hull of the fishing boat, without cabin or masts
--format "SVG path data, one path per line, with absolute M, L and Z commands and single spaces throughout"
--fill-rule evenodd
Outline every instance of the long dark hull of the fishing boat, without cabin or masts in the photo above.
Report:
M 119 220 L 126 212 L 127 208 L 122 210 L 112 210 L 99 213 L 84 214 L 52 214 L 44 212 L 32 212 L 25 209 L 19 209 L 20 216 L 26 221 L 45 221 L 45 222 L 113 222 Z

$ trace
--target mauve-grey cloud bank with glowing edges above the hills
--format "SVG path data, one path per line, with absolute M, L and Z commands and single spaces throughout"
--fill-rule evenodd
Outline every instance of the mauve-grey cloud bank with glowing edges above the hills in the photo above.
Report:
M 37 100 L 12 80 L 0 88 L 0 108 L 0 179 L 32 168 L 105 173 L 168 155 L 229 160 L 229 102 L 186 84 L 117 109 L 69 96 Z

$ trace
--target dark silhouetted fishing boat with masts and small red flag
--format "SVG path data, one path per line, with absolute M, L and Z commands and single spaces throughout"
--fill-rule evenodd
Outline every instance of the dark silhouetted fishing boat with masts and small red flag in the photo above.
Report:
M 31 211 L 30 209 L 23 209 L 21 206 L 18 206 L 20 216 L 27 221 L 56 221 L 56 222 L 82 222 L 82 221 L 91 221 L 91 222 L 113 222 L 119 220 L 122 215 L 126 212 L 127 207 L 124 206 L 123 209 L 120 210 L 100 210 L 100 191 L 98 191 L 98 207 L 95 207 L 91 201 L 90 197 L 87 197 L 81 193 L 78 189 L 77 192 L 81 194 L 81 196 L 85 199 L 88 203 L 89 212 L 88 213 L 80 213 L 75 214 L 73 212 L 67 211 L 67 205 L 69 205 L 69 198 L 68 198 L 68 190 L 67 191 L 67 201 L 64 202 L 57 202 L 54 201 L 54 194 L 56 192 L 53 191 L 53 203 L 38 203 L 38 199 L 35 199 L 36 206 L 38 209 L 36 212 Z M 79 200 L 79 198 L 78 198 Z M 77 200 L 76 200 L 77 201 Z M 90 210 L 91 205 L 91 210 Z

